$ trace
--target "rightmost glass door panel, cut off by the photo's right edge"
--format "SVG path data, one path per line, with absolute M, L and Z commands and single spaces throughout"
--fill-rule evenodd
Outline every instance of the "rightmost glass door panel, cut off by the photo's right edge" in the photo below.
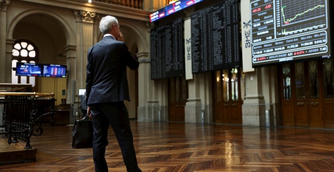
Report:
M 323 74 L 324 74 L 324 90 L 325 98 L 334 97 L 334 72 L 333 72 L 333 59 L 323 60 Z

